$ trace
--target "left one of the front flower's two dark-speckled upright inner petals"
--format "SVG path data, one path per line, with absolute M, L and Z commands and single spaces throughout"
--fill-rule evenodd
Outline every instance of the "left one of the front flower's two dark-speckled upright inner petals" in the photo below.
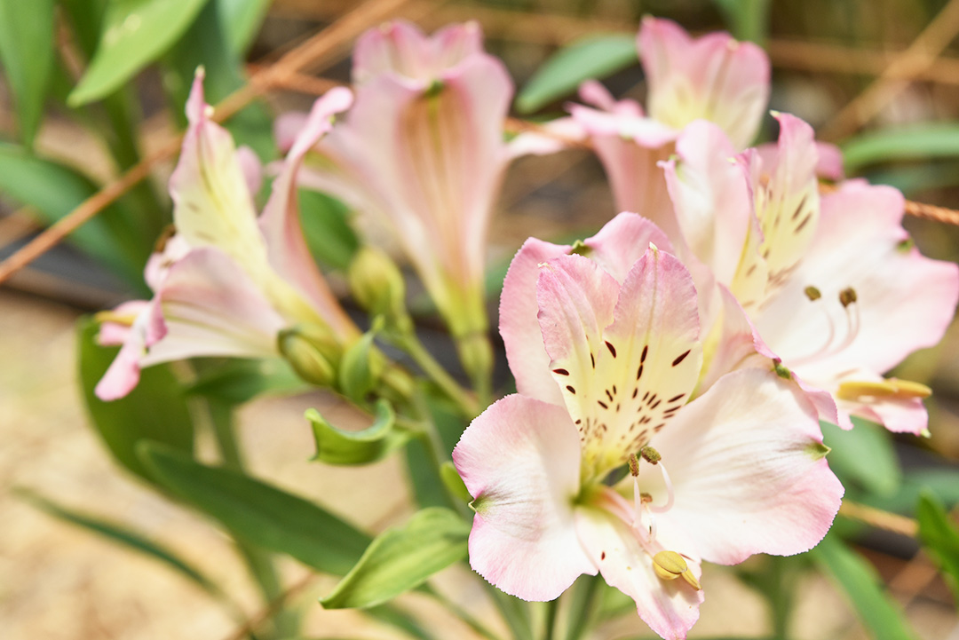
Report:
M 597 371 L 603 371 L 601 362 L 609 355 L 602 332 L 613 322 L 619 290 L 612 276 L 579 255 L 553 258 L 540 267 L 536 302 L 550 371 L 586 443 L 601 431 L 597 402 L 607 400 L 606 380 Z

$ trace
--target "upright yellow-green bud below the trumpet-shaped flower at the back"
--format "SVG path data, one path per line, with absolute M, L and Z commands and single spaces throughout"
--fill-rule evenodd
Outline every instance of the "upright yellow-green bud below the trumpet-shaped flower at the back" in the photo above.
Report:
M 407 317 L 403 274 L 380 249 L 364 246 L 357 251 L 348 278 L 353 297 L 363 309 L 391 320 Z

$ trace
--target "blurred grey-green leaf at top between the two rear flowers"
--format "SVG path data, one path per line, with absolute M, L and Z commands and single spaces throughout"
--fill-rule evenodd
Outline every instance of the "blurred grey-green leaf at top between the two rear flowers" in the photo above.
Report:
M 635 64 L 636 37 L 592 35 L 561 49 L 526 82 L 516 98 L 516 110 L 532 113 L 562 98 L 584 80 L 602 79 Z

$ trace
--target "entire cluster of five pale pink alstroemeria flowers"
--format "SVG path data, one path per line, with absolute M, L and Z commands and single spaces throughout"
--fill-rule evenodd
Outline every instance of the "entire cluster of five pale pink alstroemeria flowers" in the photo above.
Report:
M 684 638 L 702 561 L 801 553 L 826 535 L 843 487 L 820 420 L 925 431 L 928 389 L 883 374 L 938 342 L 959 273 L 912 245 L 901 194 L 843 181 L 837 150 L 800 119 L 774 114 L 778 144 L 746 149 L 769 95 L 759 47 L 647 18 L 638 48 L 648 113 L 590 81 L 592 106 L 564 121 L 626 213 L 516 254 L 500 332 L 518 393 L 476 417 L 452 457 L 487 581 L 551 600 L 599 573 L 654 631 Z M 128 393 L 142 366 L 197 355 L 282 354 L 333 386 L 361 333 L 310 258 L 298 187 L 386 228 L 466 370 L 488 377 L 493 202 L 512 157 L 560 145 L 503 141 L 513 85 L 476 25 L 375 29 L 353 80 L 279 123 L 289 153 L 257 217 L 259 167 L 210 121 L 198 76 L 171 180 L 175 236 L 148 265 L 152 300 L 104 315 L 102 342 L 123 348 L 102 399 Z

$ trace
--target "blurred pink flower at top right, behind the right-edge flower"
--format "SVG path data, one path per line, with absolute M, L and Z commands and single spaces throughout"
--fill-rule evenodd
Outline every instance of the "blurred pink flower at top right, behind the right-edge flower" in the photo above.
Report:
M 697 119 L 721 126 L 738 149 L 749 145 L 769 97 L 769 59 L 760 47 L 729 34 L 692 38 L 671 20 L 653 17 L 643 19 L 637 47 L 648 113 L 635 101 L 614 100 L 596 81 L 580 88 L 580 98 L 592 106 L 571 104 L 570 112 L 609 176 L 617 211 L 641 211 L 672 236 L 657 163 Z

